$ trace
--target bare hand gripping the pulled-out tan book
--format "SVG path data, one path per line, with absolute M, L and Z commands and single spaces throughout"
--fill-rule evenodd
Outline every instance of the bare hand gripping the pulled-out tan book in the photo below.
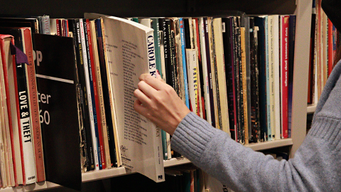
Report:
M 134 109 L 156 126 L 173 135 L 181 120 L 190 112 L 173 87 L 163 82 L 160 75 L 139 77 L 139 89 L 134 91 L 137 100 Z

